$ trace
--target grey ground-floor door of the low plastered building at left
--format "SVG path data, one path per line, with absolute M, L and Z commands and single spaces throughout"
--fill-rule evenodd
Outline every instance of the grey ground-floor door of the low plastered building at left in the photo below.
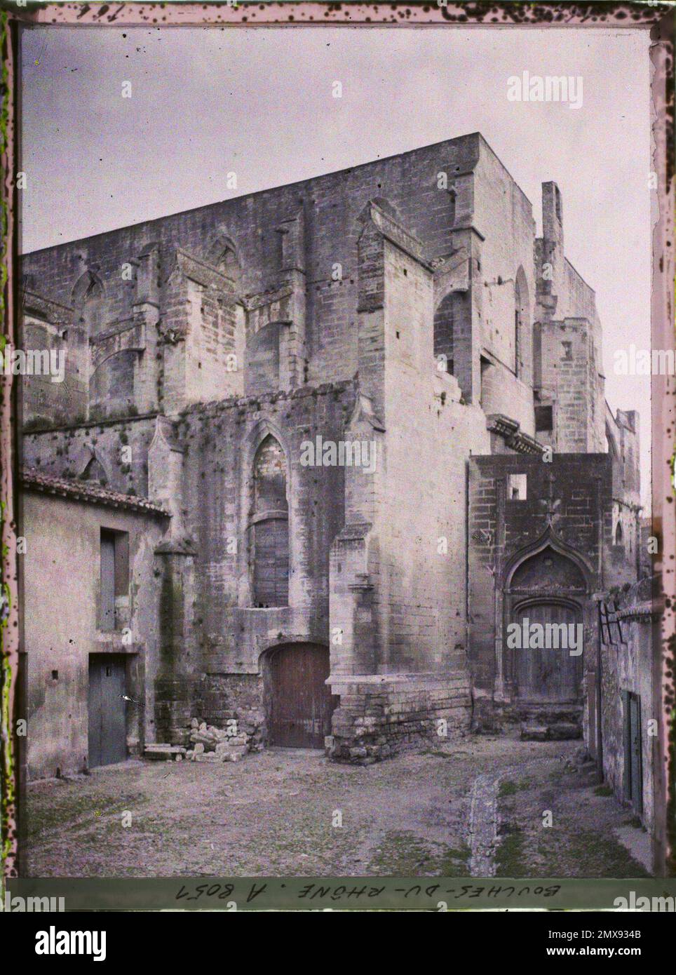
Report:
M 89 765 L 110 765 L 127 758 L 127 702 L 124 656 L 90 656 Z

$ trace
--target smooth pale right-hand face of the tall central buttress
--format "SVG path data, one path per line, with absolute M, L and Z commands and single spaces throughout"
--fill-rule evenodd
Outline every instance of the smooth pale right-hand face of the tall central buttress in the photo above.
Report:
M 488 450 L 488 434 L 481 411 L 462 405 L 452 378 L 433 368 L 431 275 L 389 242 L 384 330 L 387 481 L 374 531 L 387 636 L 379 669 L 464 667 L 466 569 L 454 554 L 467 543 L 465 458 Z

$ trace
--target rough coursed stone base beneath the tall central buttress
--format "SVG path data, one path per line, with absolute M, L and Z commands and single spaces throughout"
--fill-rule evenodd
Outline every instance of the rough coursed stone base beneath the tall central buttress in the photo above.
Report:
M 340 694 L 326 754 L 370 765 L 404 749 L 443 745 L 469 732 L 469 676 L 402 674 L 350 677 L 331 683 Z M 445 735 L 440 734 L 444 730 Z

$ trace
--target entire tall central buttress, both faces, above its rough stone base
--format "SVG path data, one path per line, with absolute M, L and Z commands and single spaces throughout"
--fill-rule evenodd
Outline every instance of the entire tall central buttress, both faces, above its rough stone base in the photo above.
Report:
M 465 565 L 453 555 L 465 547 L 462 451 L 487 450 L 489 439 L 481 411 L 435 368 L 432 273 L 417 250 L 392 212 L 367 215 L 363 403 L 348 435 L 368 438 L 377 462 L 346 472 L 346 526 L 331 554 L 332 681 L 465 666 Z

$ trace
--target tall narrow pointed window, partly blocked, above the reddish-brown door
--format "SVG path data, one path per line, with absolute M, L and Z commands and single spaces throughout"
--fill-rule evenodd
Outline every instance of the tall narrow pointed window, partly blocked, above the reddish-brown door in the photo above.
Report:
M 258 608 L 288 605 L 288 501 L 286 458 L 268 434 L 253 458 L 249 520 L 252 603 Z

